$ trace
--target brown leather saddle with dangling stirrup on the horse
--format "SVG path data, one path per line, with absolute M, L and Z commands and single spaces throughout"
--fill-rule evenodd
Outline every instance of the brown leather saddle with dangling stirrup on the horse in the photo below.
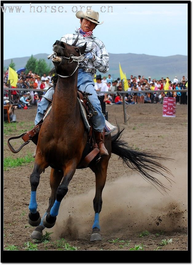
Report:
M 83 112 L 82 110 L 84 110 L 85 114 L 82 114 L 82 118 L 86 127 L 86 130 L 88 132 L 88 137 L 87 137 L 87 143 L 85 146 L 85 149 L 82 153 L 82 157 L 81 157 L 81 161 L 77 166 L 77 169 L 82 169 L 82 168 L 86 168 L 88 167 L 88 165 L 90 164 L 91 161 L 96 161 L 96 163 L 98 163 L 100 161 L 101 156 L 99 155 L 99 148 L 98 145 L 95 141 L 95 137 L 94 137 L 94 133 L 93 133 L 93 124 L 91 122 L 91 117 L 93 116 L 92 113 L 89 112 L 89 108 L 88 108 L 88 100 L 87 100 L 87 96 L 85 96 L 85 92 L 82 92 L 80 90 L 77 91 L 77 98 L 79 100 L 79 104 L 81 103 L 80 106 L 80 110 L 81 112 Z M 43 123 L 43 121 L 45 120 L 45 118 L 49 115 L 49 112 L 51 110 L 51 105 L 52 103 L 49 105 L 49 107 L 47 108 L 44 118 L 41 119 L 38 124 L 33 127 L 30 131 L 25 132 L 24 134 L 18 136 L 18 137 L 11 137 L 8 139 L 8 146 L 10 148 L 10 150 L 13 153 L 18 153 L 22 147 L 26 144 L 29 143 L 29 141 L 31 140 L 35 145 L 37 145 L 37 141 L 38 141 L 38 134 L 40 132 L 41 129 L 41 125 Z M 85 121 L 86 119 L 86 121 Z M 104 135 L 105 135 L 105 129 L 103 129 L 103 140 L 104 140 Z M 10 144 L 10 140 L 11 139 L 16 139 L 16 138 L 22 138 L 22 140 L 25 142 L 18 150 L 14 150 L 13 147 Z

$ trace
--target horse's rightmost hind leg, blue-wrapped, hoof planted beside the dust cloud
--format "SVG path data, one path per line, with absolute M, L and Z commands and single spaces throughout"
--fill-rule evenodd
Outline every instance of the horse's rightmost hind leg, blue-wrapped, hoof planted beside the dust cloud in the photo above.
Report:
M 96 176 L 96 193 L 93 200 L 93 206 L 95 211 L 95 218 L 93 223 L 93 231 L 91 233 L 90 241 L 100 241 L 102 240 L 100 235 L 100 225 L 99 225 L 99 213 L 102 208 L 102 191 L 106 182 L 107 177 L 107 167 L 108 167 L 109 157 L 103 156 L 100 164 L 97 165 L 97 169 L 91 168 Z

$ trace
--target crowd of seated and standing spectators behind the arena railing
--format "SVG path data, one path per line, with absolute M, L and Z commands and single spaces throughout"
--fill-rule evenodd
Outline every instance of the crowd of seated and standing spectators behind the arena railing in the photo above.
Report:
M 4 104 L 6 105 L 8 102 L 8 90 L 6 88 L 8 78 L 8 71 L 4 74 Z M 169 78 L 167 77 L 169 80 Z M 170 92 L 164 92 L 164 87 L 166 85 L 166 78 L 161 78 L 160 80 L 156 80 L 155 78 L 145 78 L 144 75 L 138 75 L 138 77 L 131 75 L 130 79 L 127 80 L 128 83 L 128 91 L 130 93 L 125 94 L 124 97 L 126 104 L 144 104 L 144 103 L 156 103 L 162 104 L 163 98 L 165 96 L 175 97 L 176 104 L 187 104 L 187 92 L 181 92 L 182 89 L 187 89 L 187 78 L 182 76 L 181 79 L 178 80 L 177 76 L 173 79 L 173 81 L 169 80 L 169 88 Z M 30 108 L 32 105 L 38 104 L 40 102 L 42 95 L 45 94 L 46 90 L 52 85 L 51 77 L 46 74 L 43 76 L 39 76 L 37 73 L 25 73 L 24 71 L 21 74 L 18 74 L 18 83 L 16 86 L 16 90 L 11 91 L 11 104 L 13 104 L 13 108 Z M 17 88 L 22 88 L 22 91 L 17 90 Z M 27 91 L 28 88 L 37 88 L 42 91 L 34 92 Z M 113 80 L 111 75 L 108 77 L 101 75 L 97 75 L 95 82 L 96 91 L 102 91 L 102 93 L 97 94 L 100 104 L 102 107 L 102 112 L 105 113 L 105 105 L 106 104 L 123 104 L 123 97 L 119 93 L 119 91 L 124 90 L 122 88 L 122 83 L 120 78 Z M 147 90 L 152 90 L 153 92 L 146 92 Z M 173 91 L 179 90 L 179 91 Z M 135 93 L 134 93 L 135 91 Z M 106 92 L 106 93 L 104 93 Z M 111 93 L 116 92 L 116 93 Z

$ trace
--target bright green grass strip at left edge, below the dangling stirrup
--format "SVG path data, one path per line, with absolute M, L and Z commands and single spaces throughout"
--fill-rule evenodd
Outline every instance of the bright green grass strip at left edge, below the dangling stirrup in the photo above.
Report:
M 3 161 L 4 171 L 10 168 L 21 166 L 26 163 L 30 163 L 32 161 L 34 161 L 32 154 L 26 155 L 25 157 L 18 157 L 18 158 L 6 157 Z

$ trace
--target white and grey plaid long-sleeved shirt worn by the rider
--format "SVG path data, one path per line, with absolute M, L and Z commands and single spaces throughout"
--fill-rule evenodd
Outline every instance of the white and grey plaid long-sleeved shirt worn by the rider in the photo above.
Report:
M 83 37 L 79 32 L 76 32 L 75 34 L 66 34 L 61 37 L 61 41 L 68 43 L 72 45 L 74 40 L 78 36 L 78 42 L 76 46 L 83 46 L 85 43 L 86 45 L 86 52 L 92 50 L 92 54 L 95 56 L 95 59 L 91 62 L 90 60 L 85 61 L 84 63 L 79 64 L 79 68 L 88 67 L 92 68 L 92 74 L 93 76 L 96 74 L 97 69 L 101 73 L 106 73 L 109 70 L 108 67 L 108 52 L 106 51 L 106 48 L 104 46 L 104 43 L 97 39 L 96 37 L 93 37 L 93 34 L 89 37 Z

